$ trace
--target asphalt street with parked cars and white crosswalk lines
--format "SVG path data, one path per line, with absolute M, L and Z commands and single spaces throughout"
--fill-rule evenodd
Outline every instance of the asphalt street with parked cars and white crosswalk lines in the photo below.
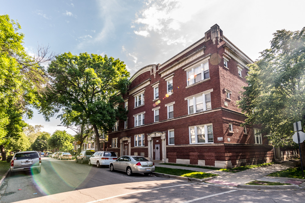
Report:
M 0 202 L 303 202 L 304 190 L 249 191 L 182 180 L 127 176 L 75 161 L 41 157 L 41 173 L 16 173 Z

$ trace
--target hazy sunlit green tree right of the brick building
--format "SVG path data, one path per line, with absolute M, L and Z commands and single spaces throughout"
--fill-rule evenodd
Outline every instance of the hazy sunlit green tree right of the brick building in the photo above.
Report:
M 296 147 L 293 123 L 305 126 L 305 27 L 273 35 L 271 48 L 249 65 L 249 86 L 239 104 L 245 124 L 260 124 L 272 145 Z

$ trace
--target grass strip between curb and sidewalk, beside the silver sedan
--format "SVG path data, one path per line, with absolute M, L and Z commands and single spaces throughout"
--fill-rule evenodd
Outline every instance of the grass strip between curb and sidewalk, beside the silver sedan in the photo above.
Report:
M 217 176 L 212 173 L 203 173 L 203 172 L 193 171 L 193 170 L 171 169 L 171 168 L 164 168 L 164 167 L 156 167 L 155 172 L 175 175 L 175 176 L 189 177 L 189 178 L 198 178 L 198 179 Z

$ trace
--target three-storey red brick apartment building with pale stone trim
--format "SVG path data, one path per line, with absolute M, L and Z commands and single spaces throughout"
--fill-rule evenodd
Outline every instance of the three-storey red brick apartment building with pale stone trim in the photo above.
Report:
M 246 117 L 236 102 L 249 63 L 215 24 L 163 64 L 141 68 L 119 104 L 128 119 L 109 132 L 108 150 L 219 168 L 271 161 L 273 147 L 259 129 L 240 126 Z

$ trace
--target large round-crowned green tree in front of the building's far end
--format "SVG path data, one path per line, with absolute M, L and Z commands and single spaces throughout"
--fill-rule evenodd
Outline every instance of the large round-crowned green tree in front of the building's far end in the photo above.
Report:
M 69 52 L 57 56 L 48 72 L 53 76 L 53 91 L 42 100 L 40 111 L 46 119 L 57 114 L 63 124 L 80 127 L 82 138 L 84 130 L 93 128 L 100 150 L 101 132 L 108 132 L 117 119 L 127 119 L 124 108 L 114 108 L 123 101 L 118 93 L 125 93 L 129 84 L 124 62 L 107 55 Z

